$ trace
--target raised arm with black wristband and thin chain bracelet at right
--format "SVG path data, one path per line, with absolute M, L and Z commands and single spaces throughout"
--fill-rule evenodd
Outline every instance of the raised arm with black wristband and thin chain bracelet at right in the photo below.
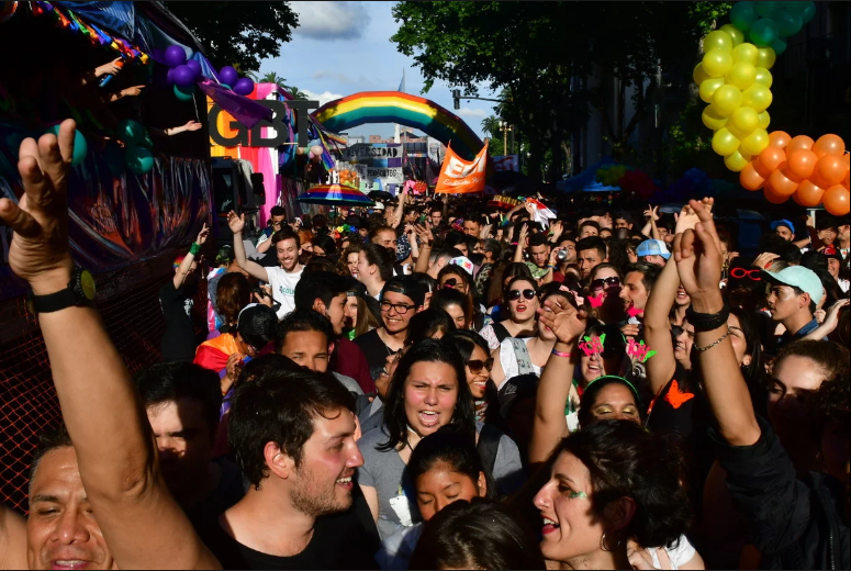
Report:
M 690 205 L 699 217 L 694 229 L 678 234 L 674 259 L 680 281 L 698 314 L 724 311 L 718 283 L 721 279 L 721 248 L 712 213 L 697 201 Z M 748 385 L 732 350 L 726 320 L 712 331 L 695 326 L 694 345 L 703 372 L 709 406 L 718 421 L 720 436 L 732 446 L 751 446 L 760 438 Z

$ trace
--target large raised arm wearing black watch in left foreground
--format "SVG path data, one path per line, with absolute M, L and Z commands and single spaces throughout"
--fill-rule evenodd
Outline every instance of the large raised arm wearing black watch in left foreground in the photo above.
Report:
M 75 128 L 65 121 L 58 143 L 53 134 L 25 139 L 18 163 L 25 195 L 20 204 L 0 199 L 0 219 L 14 231 L 9 265 L 35 295 L 66 289 L 74 271 L 66 177 Z M 217 566 L 159 473 L 144 407 L 98 312 L 70 306 L 38 323 L 80 477 L 117 566 Z

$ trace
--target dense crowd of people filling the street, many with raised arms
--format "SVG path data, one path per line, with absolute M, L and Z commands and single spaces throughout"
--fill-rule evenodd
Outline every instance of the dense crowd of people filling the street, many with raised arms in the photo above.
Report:
M 0 200 L 64 421 L 0 568 L 849 569 L 848 216 L 742 256 L 713 199 L 403 193 L 276 206 L 250 259 L 231 212 L 132 376 L 69 251 L 74 128 Z

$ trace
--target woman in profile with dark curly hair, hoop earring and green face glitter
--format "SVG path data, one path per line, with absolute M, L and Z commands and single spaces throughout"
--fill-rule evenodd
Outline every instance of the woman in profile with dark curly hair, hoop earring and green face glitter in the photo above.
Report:
M 679 449 L 631 421 L 598 421 L 553 451 L 535 496 L 544 557 L 570 569 L 632 569 L 627 544 L 679 547 L 688 525 Z M 656 551 L 651 551 L 656 553 Z

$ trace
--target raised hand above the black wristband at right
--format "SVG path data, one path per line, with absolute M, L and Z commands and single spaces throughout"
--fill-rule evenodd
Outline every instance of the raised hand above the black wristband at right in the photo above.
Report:
M 694 229 L 686 229 L 674 238 L 674 260 L 680 282 L 692 298 L 692 305 L 699 313 L 720 311 L 721 300 L 718 284 L 721 281 L 721 246 L 710 212 L 703 203 L 688 202 L 699 222 Z

